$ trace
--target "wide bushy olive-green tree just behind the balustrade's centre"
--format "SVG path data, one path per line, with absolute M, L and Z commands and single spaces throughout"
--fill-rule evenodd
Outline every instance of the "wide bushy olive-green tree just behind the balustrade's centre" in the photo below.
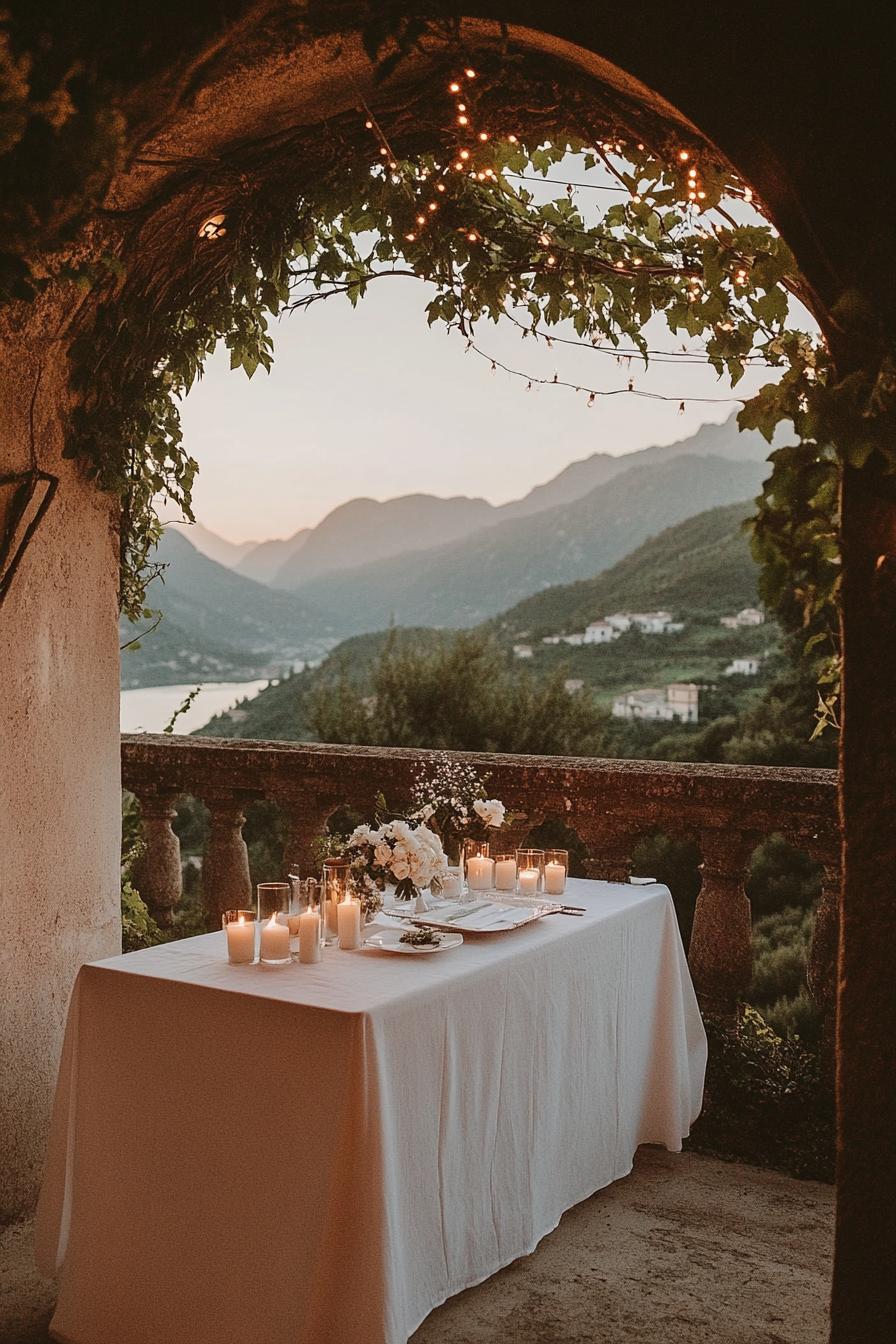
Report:
M 598 754 L 606 724 L 588 696 L 570 695 L 562 671 L 536 681 L 469 632 L 418 648 L 391 638 L 367 694 L 345 676 L 320 684 L 308 715 L 321 742 L 543 755 Z

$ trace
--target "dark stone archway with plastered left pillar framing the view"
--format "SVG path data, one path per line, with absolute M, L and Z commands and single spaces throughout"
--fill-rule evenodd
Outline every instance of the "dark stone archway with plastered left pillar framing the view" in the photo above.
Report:
M 95 70 L 98 102 L 106 99 L 124 117 L 125 130 L 118 160 L 109 164 L 102 181 L 102 210 L 93 208 L 97 200 L 75 200 L 73 188 L 55 215 L 48 211 L 46 247 L 71 246 L 60 242 L 59 228 L 79 220 L 79 249 L 124 249 L 124 284 L 142 285 L 167 269 L 176 277 L 187 259 L 179 253 L 179 239 L 187 247 L 189 235 L 192 247 L 193 210 L 218 200 L 222 190 L 234 190 L 246 167 L 257 169 L 259 156 L 263 160 L 275 148 L 278 136 L 308 128 L 301 167 L 308 173 L 321 171 L 326 146 L 313 142 L 314 128 L 351 113 L 359 91 L 373 93 L 359 35 L 369 20 L 368 8 L 321 0 L 304 12 L 298 32 L 292 5 L 234 0 L 224 17 L 220 8 L 200 4 L 183 15 L 172 7 L 161 17 L 130 20 L 133 32 L 126 34 L 86 26 L 75 43 L 78 55 Z M 411 8 L 394 7 L 396 31 Z M 493 50 L 509 38 L 528 56 L 536 83 L 545 70 L 562 70 L 583 97 L 590 89 L 598 102 L 617 112 L 703 134 L 717 146 L 760 192 L 797 254 L 840 371 L 876 367 L 880 347 L 896 327 L 893 282 L 881 266 L 888 255 L 888 224 L 872 202 L 857 250 L 854 206 L 848 192 L 837 190 L 840 183 L 832 184 L 830 171 L 832 163 L 849 164 L 850 176 L 860 181 L 889 172 L 892 185 L 892 163 L 880 164 L 864 133 L 869 125 L 887 124 L 885 78 L 870 77 L 881 60 L 870 23 L 857 23 L 849 34 L 815 34 L 809 58 L 809 7 L 782 13 L 780 7 L 763 3 L 751 11 L 750 32 L 731 36 L 719 32 L 709 4 L 692 7 L 689 23 L 672 31 L 658 28 L 654 7 L 643 4 L 595 12 L 592 4 L 571 3 L 549 16 L 533 4 L 510 0 L 443 7 L 449 15 L 473 8 L 478 17 L 467 20 L 461 34 L 469 50 Z M 512 27 L 502 34 L 489 20 Z M 410 51 L 376 97 L 391 99 L 396 116 L 402 109 L 419 110 L 433 59 L 431 51 Z M 547 114 L 544 105 L 531 110 Z M 823 144 L 818 144 L 819 125 Z M 414 120 L 414 134 L 437 130 Z M 99 190 L 94 195 L 98 199 Z M 887 199 L 885 181 L 880 199 Z M 146 293 L 160 297 L 157 285 Z M 0 652 L 0 668 L 12 688 L 4 730 L 19 743 L 23 762 L 15 808 L 4 821 L 5 848 L 19 855 L 4 874 L 4 899 L 19 911 L 7 950 L 19 1005 L 8 1064 L 15 1077 L 27 1079 L 9 1117 L 12 1128 L 26 1130 L 13 1159 L 11 1216 L 27 1211 L 38 1179 L 67 986 L 81 961 L 111 948 L 116 927 L 114 512 L 110 500 L 62 458 L 71 407 L 69 343 L 75 317 L 89 325 L 90 306 L 87 297 L 81 313 L 74 313 L 67 298 L 51 290 L 30 313 L 13 310 L 4 320 L 0 363 L 4 453 L 15 469 L 36 438 L 40 465 L 60 476 L 59 500 L 42 528 L 42 544 L 26 562 L 27 582 L 19 577 L 4 607 L 3 624 L 16 637 L 4 640 Z M 896 1004 L 888 988 L 896 943 L 891 899 L 895 547 L 892 484 L 873 465 L 848 472 L 841 1157 L 833 1312 L 838 1341 L 891 1337 L 896 1312 L 887 1286 L 896 1242 L 889 1128 Z M 78 556 L 77 566 L 73 556 Z M 64 902 L 54 886 L 60 872 L 69 874 L 71 886 Z M 24 914 L 21 891 L 31 892 Z M 30 957 L 20 949 L 32 948 L 34 914 L 42 910 L 42 918 L 52 913 L 59 931 L 50 957 L 42 960 L 46 978 L 35 992 Z M 35 1040 L 40 1043 L 36 1054 Z M 38 1066 L 26 1067 L 26 1056 L 32 1063 L 39 1056 Z

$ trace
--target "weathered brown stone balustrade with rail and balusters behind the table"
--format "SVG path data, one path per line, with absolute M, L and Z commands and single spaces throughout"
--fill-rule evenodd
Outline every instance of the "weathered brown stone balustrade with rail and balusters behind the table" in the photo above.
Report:
M 146 849 L 134 879 L 153 915 L 169 925 L 181 894 L 171 821 L 180 796 L 200 798 L 211 824 L 203 859 L 210 919 L 251 906 L 246 806 L 274 802 L 286 820 L 283 870 L 309 871 L 314 837 L 341 808 L 369 816 L 382 790 L 398 806 L 433 753 L 218 738 L 122 737 L 122 785 L 136 794 Z M 832 770 L 603 761 L 575 757 L 463 754 L 488 775 L 488 792 L 525 820 L 505 827 L 508 849 L 548 820 L 583 841 L 591 878 L 625 882 L 638 840 L 665 832 L 696 841 L 701 888 L 689 960 L 704 1012 L 731 1015 L 751 980 L 751 913 L 744 891 L 750 857 L 772 833 L 823 868 L 809 984 L 827 1020 L 833 1012 L 840 884 L 837 784 Z

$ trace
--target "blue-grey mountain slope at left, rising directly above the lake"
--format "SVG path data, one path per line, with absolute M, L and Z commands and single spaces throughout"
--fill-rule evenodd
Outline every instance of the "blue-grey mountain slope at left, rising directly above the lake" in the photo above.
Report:
M 165 530 L 156 559 L 167 569 L 149 585 L 148 602 L 164 617 L 156 630 L 146 622 L 138 649 L 122 653 L 125 688 L 191 677 L 250 680 L 317 657 L 334 642 L 324 616 L 308 601 L 255 583 L 201 555 L 177 527 Z M 122 644 L 140 629 L 122 621 Z

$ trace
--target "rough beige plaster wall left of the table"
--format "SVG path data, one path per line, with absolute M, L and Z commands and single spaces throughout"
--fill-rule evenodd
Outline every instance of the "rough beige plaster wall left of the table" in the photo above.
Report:
M 121 938 L 110 500 L 60 458 L 64 362 L 46 344 L 32 410 L 34 348 L 0 333 L 0 474 L 28 468 L 34 422 L 60 480 L 0 605 L 0 1224 L 36 1199 L 78 966 Z

